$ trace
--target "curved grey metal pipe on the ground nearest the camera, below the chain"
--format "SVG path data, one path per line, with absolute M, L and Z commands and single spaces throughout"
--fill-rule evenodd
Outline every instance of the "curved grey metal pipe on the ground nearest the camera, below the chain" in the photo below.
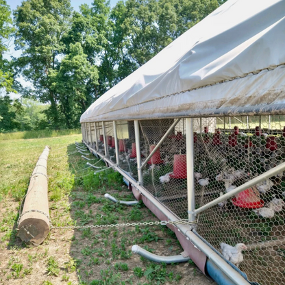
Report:
M 143 256 L 148 260 L 158 263 L 177 263 L 177 262 L 187 262 L 190 258 L 187 256 L 184 258 L 181 254 L 179 256 L 157 256 L 156 254 L 150 253 L 149 251 L 142 249 L 138 245 L 132 246 L 132 251 L 137 253 L 139 256 Z

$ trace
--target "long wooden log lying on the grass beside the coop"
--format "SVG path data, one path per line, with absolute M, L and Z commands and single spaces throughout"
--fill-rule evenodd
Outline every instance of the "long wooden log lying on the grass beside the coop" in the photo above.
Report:
M 18 237 L 33 245 L 40 245 L 49 234 L 48 156 L 49 147 L 45 147 L 29 181 L 25 203 L 18 220 Z

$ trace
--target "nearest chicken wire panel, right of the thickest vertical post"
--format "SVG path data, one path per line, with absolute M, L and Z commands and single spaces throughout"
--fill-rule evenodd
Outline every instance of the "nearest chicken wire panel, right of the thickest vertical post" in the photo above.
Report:
M 221 119 L 214 133 L 204 125 L 195 134 L 197 208 L 285 159 L 280 116 Z M 285 283 L 284 181 L 278 173 L 197 217 L 197 232 L 217 250 L 222 252 L 221 243 L 247 246 L 239 267 L 260 284 Z

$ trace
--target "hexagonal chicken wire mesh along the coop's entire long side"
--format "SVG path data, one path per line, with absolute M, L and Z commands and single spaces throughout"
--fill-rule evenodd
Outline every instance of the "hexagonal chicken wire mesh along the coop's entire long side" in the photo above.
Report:
M 142 163 L 173 119 L 139 121 Z M 114 126 L 105 122 L 107 137 Z M 95 123 L 103 153 L 102 123 Z M 193 119 L 195 208 L 285 161 L 285 116 Z M 91 128 L 92 133 L 92 128 Z M 138 180 L 134 121 L 116 121 L 119 167 Z M 113 143 L 112 143 L 113 144 Z M 113 145 L 110 159 L 116 162 Z M 188 218 L 186 119 L 181 119 L 142 169 L 142 185 L 179 219 Z M 197 233 L 260 284 L 285 284 L 284 172 L 201 212 Z M 238 258 L 228 253 L 235 247 Z M 243 253 L 241 252 L 243 250 Z M 236 257 L 236 256 L 235 256 Z M 243 259 L 243 261 L 242 261 Z

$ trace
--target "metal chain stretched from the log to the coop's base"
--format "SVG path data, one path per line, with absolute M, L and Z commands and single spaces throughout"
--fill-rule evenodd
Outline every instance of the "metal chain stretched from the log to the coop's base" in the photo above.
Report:
M 113 225 L 66 225 L 66 226 L 51 226 L 51 229 L 92 229 L 103 227 L 135 227 L 136 225 L 192 225 L 195 221 L 177 220 L 177 221 L 156 221 L 156 222 L 143 222 L 143 223 L 116 223 Z

